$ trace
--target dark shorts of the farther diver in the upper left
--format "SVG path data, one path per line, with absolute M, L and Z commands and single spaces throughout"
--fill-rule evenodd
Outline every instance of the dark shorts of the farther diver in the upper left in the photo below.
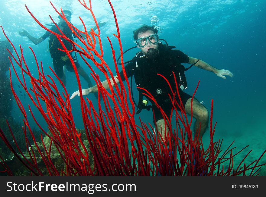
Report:
M 55 71 L 57 77 L 59 77 L 59 78 L 62 78 L 64 76 L 64 70 L 63 70 L 63 66 L 64 65 L 66 66 L 66 69 L 68 71 L 75 72 L 74 68 L 73 68 L 73 66 L 71 64 L 70 59 L 67 59 L 66 61 L 63 61 L 63 60 L 60 59 L 60 57 L 59 58 L 53 58 L 53 64 L 54 64 L 54 71 Z M 78 61 L 75 63 L 75 65 L 76 65 L 76 68 L 80 67 L 80 64 L 79 64 Z

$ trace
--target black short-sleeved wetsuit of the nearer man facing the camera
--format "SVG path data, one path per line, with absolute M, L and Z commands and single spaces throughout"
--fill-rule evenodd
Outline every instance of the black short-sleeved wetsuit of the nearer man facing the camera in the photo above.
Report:
M 139 56 L 143 55 L 142 52 Z M 174 62 L 175 61 L 175 62 Z M 177 78 L 178 67 L 181 66 L 180 63 L 188 63 L 189 57 L 179 50 L 166 50 L 161 44 L 159 45 L 159 54 L 154 60 L 149 60 L 148 58 L 141 58 L 137 61 L 138 68 L 136 67 L 136 62 L 130 62 L 125 66 L 125 71 L 127 77 L 134 75 L 136 85 L 143 87 L 148 90 L 151 95 L 154 96 L 157 103 L 161 106 L 167 117 L 170 117 L 172 104 L 170 102 L 168 93 L 172 95 L 169 85 L 167 82 L 158 74 L 163 75 L 169 81 L 173 91 L 176 91 L 176 85 L 174 81 L 173 71 Z M 120 76 L 122 81 L 125 80 L 123 72 L 121 71 Z M 159 91 L 157 91 L 159 89 Z M 161 91 L 160 91 L 161 90 Z M 158 94 L 157 92 L 161 92 Z M 191 95 L 183 92 L 179 88 L 180 98 L 185 106 L 188 99 L 192 98 Z M 177 102 L 180 104 L 178 97 L 176 96 Z M 151 102 L 151 101 L 150 101 Z M 162 114 L 155 105 L 153 105 L 155 120 L 160 120 Z M 180 110 L 179 110 L 180 111 Z

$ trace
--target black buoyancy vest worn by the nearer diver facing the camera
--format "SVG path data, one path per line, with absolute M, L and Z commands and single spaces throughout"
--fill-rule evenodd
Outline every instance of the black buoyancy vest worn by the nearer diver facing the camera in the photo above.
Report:
M 138 53 L 135 58 L 137 60 L 134 62 L 135 83 L 137 87 L 148 90 L 154 96 L 157 102 L 169 100 L 168 94 L 172 96 L 170 87 L 166 80 L 157 75 L 157 73 L 163 75 L 169 81 L 173 91 L 175 92 L 176 86 L 172 72 L 174 71 L 176 75 L 177 83 L 179 83 L 179 73 L 184 72 L 184 66 L 177 61 L 171 48 L 173 47 L 159 44 L 159 54 L 154 60 L 149 60 L 148 58 L 139 58 L 141 55 L 143 55 L 142 52 Z M 139 94 L 145 92 L 139 88 L 138 90 L 140 91 Z M 142 102 L 142 100 L 139 101 L 139 104 L 140 102 Z

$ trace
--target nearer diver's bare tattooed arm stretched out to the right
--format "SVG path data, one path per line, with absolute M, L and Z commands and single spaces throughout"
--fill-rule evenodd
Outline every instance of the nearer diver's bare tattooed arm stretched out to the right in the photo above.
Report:
M 194 64 L 198 59 L 197 58 L 192 58 L 189 57 L 189 64 Z M 233 73 L 231 73 L 229 70 L 225 70 L 225 69 L 217 69 L 215 67 L 212 67 L 210 64 L 200 60 L 198 61 L 194 66 L 204 69 L 204 70 L 208 70 L 212 73 L 215 73 L 218 77 L 221 77 L 223 79 L 226 79 L 226 77 L 224 75 L 228 75 L 230 77 L 233 77 Z

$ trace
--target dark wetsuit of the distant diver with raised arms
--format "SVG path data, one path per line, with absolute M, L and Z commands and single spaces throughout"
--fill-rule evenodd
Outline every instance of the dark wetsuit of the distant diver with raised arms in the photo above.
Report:
M 55 32 L 55 33 L 61 34 L 56 26 L 53 26 L 50 30 Z M 72 37 L 73 33 L 67 25 L 64 26 L 62 32 L 66 35 L 67 38 L 73 40 L 73 37 Z M 54 71 L 57 74 L 57 76 L 59 78 L 64 76 L 64 72 L 63 72 L 63 66 L 64 65 L 66 66 L 66 69 L 68 71 L 74 72 L 74 69 L 73 69 L 72 64 L 70 62 L 70 59 L 68 59 L 68 58 L 66 60 L 61 59 L 61 57 L 66 56 L 66 52 L 58 50 L 58 48 L 63 49 L 63 47 L 60 44 L 60 42 L 58 41 L 58 39 L 56 38 L 56 36 L 54 34 L 48 32 L 48 31 L 46 33 L 44 33 L 43 36 L 41 36 L 41 38 L 44 40 L 47 37 L 50 37 L 50 40 L 49 40 L 50 55 L 51 55 L 51 58 L 53 58 Z M 72 49 L 72 44 L 70 42 L 68 42 L 66 39 L 62 39 L 62 41 L 65 44 L 67 50 Z M 76 62 L 75 65 L 77 68 L 80 67 L 78 62 Z

